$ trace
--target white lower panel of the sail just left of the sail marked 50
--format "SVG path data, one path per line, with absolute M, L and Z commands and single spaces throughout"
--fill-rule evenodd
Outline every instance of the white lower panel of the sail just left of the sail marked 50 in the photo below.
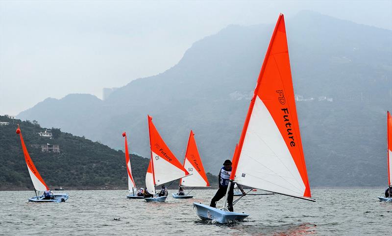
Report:
M 179 169 L 175 165 L 172 165 L 172 163 L 167 161 L 165 157 L 160 157 L 158 154 L 152 151 L 151 153 L 156 185 L 166 184 L 185 176 L 184 170 Z

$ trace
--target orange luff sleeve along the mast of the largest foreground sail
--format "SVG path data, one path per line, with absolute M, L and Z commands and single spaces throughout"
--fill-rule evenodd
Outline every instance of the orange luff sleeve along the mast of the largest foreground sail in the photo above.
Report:
M 275 28 L 273 29 L 273 33 L 272 33 L 272 37 L 271 37 L 271 40 L 270 40 L 270 44 L 268 45 L 266 56 L 265 56 L 265 59 L 263 61 L 262 66 L 261 66 L 259 77 L 257 78 L 256 87 L 254 89 L 253 97 L 252 97 L 252 100 L 250 101 L 249 109 L 248 109 L 248 112 L 246 114 L 244 127 L 242 129 L 241 136 L 240 136 L 240 141 L 237 144 L 238 145 L 238 150 L 237 150 L 237 147 L 236 147 L 237 155 L 236 155 L 235 158 L 233 158 L 233 161 L 232 161 L 232 171 L 231 171 L 231 175 L 230 175 L 230 179 L 231 180 L 234 180 L 234 177 L 235 177 L 236 172 L 237 172 L 238 160 L 240 158 L 240 153 L 241 153 L 242 148 L 244 146 L 244 140 L 245 140 L 245 135 L 246 135 L 247 128 L 249 126 L 250 116 L 252 114 L 253 107 L 254 107 L 254 104 L 255 104 L 255 100 L 256 100 L 256 97 L 257 97 L 257 93 L 259 91 L 259 84 L 261 82 L 261 79 L 263 78 L 264 71 L 266 70 L 267 58 L 270 56 L 273 39 L 275 38 L 276 31 L 277 31 L 278 25 L 279 25 L 282 17 L 283 17 L 283 14 L 281 13 L 279 15 L 278 21 L 277 21 L 277 23 L 275 25 Z

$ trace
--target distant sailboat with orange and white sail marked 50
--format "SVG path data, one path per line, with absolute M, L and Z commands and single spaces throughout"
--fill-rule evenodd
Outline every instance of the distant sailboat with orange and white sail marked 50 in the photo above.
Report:
M 189 174 L 188 177 L 184 177 L 180 179 L 179 188 L 181 186 L 193 187 L 187 194 L 178 195 L 178 193 L 172 193 L 173 198 L 177 199 L 187 199 L 193 198 L 193 196 L 189 195 L 189 193 L 195 187 L 209 187 L 210 183 L 208 182 L 207 175 L 205 174 L 203 164 L 201 162 L 201 158 L 196 146 L 195 133 L 191 131 L 188 139 L 187 151 L 184 157 L 184 169 L 186 169 Z

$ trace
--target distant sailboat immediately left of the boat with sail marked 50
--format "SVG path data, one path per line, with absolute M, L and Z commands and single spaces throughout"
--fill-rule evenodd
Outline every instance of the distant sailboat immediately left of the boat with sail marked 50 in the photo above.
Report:
M 152 117 L 147 115 L 147 119 L 151 159 L 146 173 L 146 187 L 147 191 L 155 196 L 155 186 L 188 176 L 189 172 L 184 169 L 163 141 L 161 135 L 159 135 L 152 123 Z M 168 196 L 151 197 L 145 198 L 145 200 L 146 202 L 164 202 L 167 197 Z

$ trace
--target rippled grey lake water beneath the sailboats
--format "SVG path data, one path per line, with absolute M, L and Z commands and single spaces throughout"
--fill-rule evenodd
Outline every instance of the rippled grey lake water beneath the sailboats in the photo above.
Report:
M 0 234 L 386 236 L 392 232 L 392 204 L 377 199 L 382 188 L 315 188 L 315 203 L 277 194 L 245 196 L 234 210 L 250 216 L 230 225 L 201 221 L 193 209 L 193 202 L 208 204 L 216 190 L 194 190 L 194 198 L 185 200 L 173 199 L 173 191 L 165 203 L 128 200 L 125 190 L 64 191 L 70 198 L 58 204 L 28 203 L 33 191 L 2 191 Z

